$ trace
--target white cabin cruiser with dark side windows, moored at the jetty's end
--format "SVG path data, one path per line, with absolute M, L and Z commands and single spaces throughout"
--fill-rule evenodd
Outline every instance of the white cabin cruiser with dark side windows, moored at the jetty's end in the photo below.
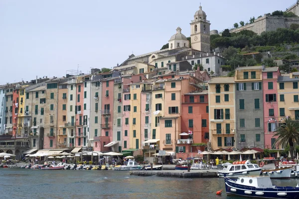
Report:
M 220 178 L 238 178 L 240 176 L 255 176 L 261 174 L 262 168 L 257 164 L 252 164 L 250 160 L 234 162 L 227 165 L 227 168 L 218 171 Z

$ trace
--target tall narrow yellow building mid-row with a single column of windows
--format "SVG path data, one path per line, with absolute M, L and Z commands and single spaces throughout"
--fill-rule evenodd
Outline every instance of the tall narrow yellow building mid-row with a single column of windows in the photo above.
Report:
M 141 148 L 141 90 L 142 83 L 130 84 L 130 148 Z

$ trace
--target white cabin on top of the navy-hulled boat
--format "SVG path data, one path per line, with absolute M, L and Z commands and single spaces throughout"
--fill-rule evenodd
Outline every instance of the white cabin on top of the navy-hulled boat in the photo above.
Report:
M 256 188 L 261 188 L 261 189 L 275 187 L 272 185 L 270 177 L 264 177 L 264 176 L 239 177 L 236 183 L 239 185 L 256 187 Z

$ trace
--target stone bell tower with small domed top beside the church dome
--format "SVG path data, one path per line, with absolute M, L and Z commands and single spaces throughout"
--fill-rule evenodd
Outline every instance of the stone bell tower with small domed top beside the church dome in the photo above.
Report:
M 206 13 L 199 10 L 194 14 L 194 20 L 191 21 L 191 48 L 194 50 L 209 53 L 210 50 L 210 21 L 207 20 Z

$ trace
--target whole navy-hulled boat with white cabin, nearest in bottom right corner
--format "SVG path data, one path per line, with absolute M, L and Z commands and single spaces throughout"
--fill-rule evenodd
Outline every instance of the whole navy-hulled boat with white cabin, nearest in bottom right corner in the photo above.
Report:
M 298 199 L 299 196 L 298 184 L 297 187 L 277 187 L 266 176 L 241 176 L 237 181 L 225 177 L 224 180 L 228 196 L 259 199 Z

